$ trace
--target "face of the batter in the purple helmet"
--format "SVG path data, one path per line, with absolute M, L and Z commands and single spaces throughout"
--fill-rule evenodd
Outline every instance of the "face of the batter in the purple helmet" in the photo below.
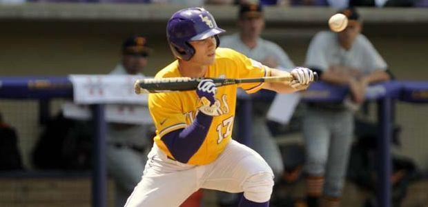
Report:
M 189 60 L 203 66 L 213 65 L 215 60 L 215 37 L 189 42 L 195 48 L 195 55 Z

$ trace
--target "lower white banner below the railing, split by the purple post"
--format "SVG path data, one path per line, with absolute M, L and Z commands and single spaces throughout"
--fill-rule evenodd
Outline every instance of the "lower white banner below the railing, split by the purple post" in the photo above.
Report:
M 152 117 L 147 106 L 131 104 L 107 104 L 105 119 L 107 122 L 122 124 L 152 124 Z M 88 105 L 64 103 L 62 106 L 64 117 L 69 119 L 89 120 L 92 112 Z

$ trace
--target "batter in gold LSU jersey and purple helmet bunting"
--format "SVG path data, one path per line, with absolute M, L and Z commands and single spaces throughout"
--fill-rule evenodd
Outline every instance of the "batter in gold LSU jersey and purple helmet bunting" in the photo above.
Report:
M 213 16 L 204 8 L 175 12 L 166 26 L 169 46 L 177 60 L 160 70 L 165 77 L 266 77 L 289 72 L 226 48 L 217 48 Z M 269 206 L 273 172 L 251 148 L 231 139 L 236 90 L 277 92 L 305 89 L 313 81 L 308 68 L 291 71 L 291 83 L 245 83 L 217 88 L 211 79 L 197 90 L 150 94 L 148 107 L 156 126 L 152 150 L 142 180 L 125 206 L 179 206 L 200 188 L 244 192 L 240 206 Z

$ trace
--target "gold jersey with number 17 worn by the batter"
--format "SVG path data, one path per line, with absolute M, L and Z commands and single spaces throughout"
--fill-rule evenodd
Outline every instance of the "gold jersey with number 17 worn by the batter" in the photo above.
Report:
M 269 76 L 269 69 L 262 63 L 227 48 L 217 48 L 215 63 L 208 66 L 205 77 L 211 78 L 255 78 Z M 155 78 L 182 77 L 178 70 L 178 61 L 174 61 L 160 70 Z M 220 86 L 215 95 L 220 102 L 220 115 L 213 117 L 206 139 L 197 152 L 188 160 L 188 164 L 204 165 L 214 161 L 231 140 L 233 119 L 235 119 L 237 88 L 247 93 L 260 90 L 263 83 L 241 83 Z M 186 128 L 192 124 L 197 109 L 202 105 L 195 90 L 184 92 L 154 93 L 148 96 L 148 108 L 156 126 L 155 144 L 173 158 L 171 152 L 162 141 L 168 132 Z

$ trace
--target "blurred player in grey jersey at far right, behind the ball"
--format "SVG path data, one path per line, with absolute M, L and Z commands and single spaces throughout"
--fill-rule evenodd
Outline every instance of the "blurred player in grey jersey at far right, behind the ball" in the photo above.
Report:
M 357 11 L 347 8 L 339 12 L 348 17 L 347 28 L 316 34 L 305 61 L 322 81 L 349 86 L 351 92 L 344 103 L 307 103 L 303 132 L 309 207 L 339 206 L 353 138 L 353 113 L 364 101 L 370 83 L 390 79 L 387 63 L 360 34 L 362 22 Z

